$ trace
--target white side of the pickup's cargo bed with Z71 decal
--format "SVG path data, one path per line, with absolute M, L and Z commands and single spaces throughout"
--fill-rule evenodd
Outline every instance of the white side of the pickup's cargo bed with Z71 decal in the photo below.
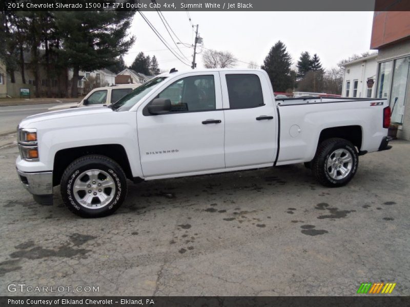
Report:
M 387 135 L 383 128 L 386 99 L 303 97 L 276 100 L 280 149 L 277 165 L 308 162 L 315 156 L 321 131 L 352 127 L 361 151 L 377 151 Z M 340 137 L 343 137 L 341 135 Z

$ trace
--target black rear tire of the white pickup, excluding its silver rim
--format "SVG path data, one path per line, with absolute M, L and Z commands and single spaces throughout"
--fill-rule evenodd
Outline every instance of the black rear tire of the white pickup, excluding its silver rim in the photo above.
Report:
M 335 179 L 331 176 L 330 170 L 332 170 L 334 166 L 330 165 L 330 168 L 327 167 L 327 161 L 329 160 L 329 158 L 332 159 L 331 155 L 335 157 L 333 153 L 337 149 L 347 150 L 352 157 L 352 164 L 349 168 L 350 170 L 345 175 L 345 177 L 341 179 Z M 347 140 L 332 138 L 327 139 L 323 141 L 321 144 L 319 144 L 316 150 L 315 158 L 312 161 L 312 172 L 313 176 L 317 181 L 319 181 L 320 184 L 326 187 L 341 187 L 347 184 L 349 181 L 351 181 L 352 178 L 355 176 L 358 164 L 359 157 L 355 146 Z M 340 167 L 342 167 L 342 169 L 346 169 L 347 167 L 345 168 L 345 166 L 348 166 L 348 164 L 340 163 Z M 337 167 L 338 166 L 336 162 L 336 170 L 338 169 Z M 342 173 L 340 172 L 340 170 L 339 172 L 336 171 L 335 174 L 336 177 L 342 177 Z M 337 174 L 340 175 L 337 176 Z

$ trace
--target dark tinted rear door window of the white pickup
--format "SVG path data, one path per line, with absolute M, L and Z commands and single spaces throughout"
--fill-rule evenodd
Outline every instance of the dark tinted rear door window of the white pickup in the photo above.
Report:
M 229 106 L 231 109 L 250 108 L 264 105 L 262 86 L 255 74 L 226 75 Z

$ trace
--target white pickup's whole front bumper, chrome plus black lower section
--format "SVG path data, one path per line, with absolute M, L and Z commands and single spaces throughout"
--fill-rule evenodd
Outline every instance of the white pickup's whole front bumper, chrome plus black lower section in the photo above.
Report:
M 53 172 L 23 172 L 17 169 L 18 179 L 33 194 L 37 203 L 51 205 L 53 202 Z

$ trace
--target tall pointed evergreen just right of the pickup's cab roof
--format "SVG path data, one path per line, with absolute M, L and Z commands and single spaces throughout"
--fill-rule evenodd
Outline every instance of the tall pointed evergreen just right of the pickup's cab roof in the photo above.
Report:
M 284 43 L 279 40 L 271 48 L 261 67 L 268 73 L 275 92 L 293 89 L 291 64 L 291 55 L 286 51 Z

